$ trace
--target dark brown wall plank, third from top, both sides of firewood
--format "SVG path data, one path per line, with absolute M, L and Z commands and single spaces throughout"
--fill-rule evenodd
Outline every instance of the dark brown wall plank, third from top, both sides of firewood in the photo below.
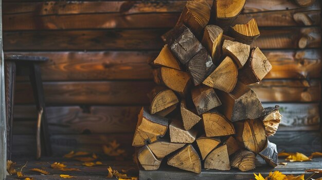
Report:
M 6 51 L 24 50 L 160 50 L 160 36 L 165 29 L 145 30 L 82 30 L 82 31 L 25 31 L 5 32 Z M 320 47 L 320 29 L 283 28 L 262 29 L 252 46 L 261 49 L 298 49 Z M 58 38 L 59 37 L 59 38 Z M 305 39 L 304 39 L 305 38 Z

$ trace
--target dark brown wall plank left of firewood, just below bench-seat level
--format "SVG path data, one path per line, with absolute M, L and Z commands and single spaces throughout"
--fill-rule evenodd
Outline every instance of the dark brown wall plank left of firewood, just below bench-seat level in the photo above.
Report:
M 47 82 L 43 83 L 48 105 L 59 104 L 148 104 L 147 93 L 155 86 L 152 81 L 121 82 Z M 33 103 L 29 83 L 17 83 L 16 104 Z

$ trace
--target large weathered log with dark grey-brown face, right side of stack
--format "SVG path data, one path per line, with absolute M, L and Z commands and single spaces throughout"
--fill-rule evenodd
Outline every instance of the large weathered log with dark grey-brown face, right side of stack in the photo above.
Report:
M 237 82 L 231 93 L 223 91 L 217 93 L 220 101 L 225 102 L 219 108 L 231 122 L 255 119 L 265 114 L 257 94 L 243 83 Z

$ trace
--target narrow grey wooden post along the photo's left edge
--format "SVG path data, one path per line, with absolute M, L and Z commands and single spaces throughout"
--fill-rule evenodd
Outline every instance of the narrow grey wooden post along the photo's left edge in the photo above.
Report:
M 5 103 L 5 69 L 4 52 L 2 48 L 2 1 L 0 0 L 0 179 L 6 178 L 7 162 L 7 121 L 6 121 L 6 103 Z

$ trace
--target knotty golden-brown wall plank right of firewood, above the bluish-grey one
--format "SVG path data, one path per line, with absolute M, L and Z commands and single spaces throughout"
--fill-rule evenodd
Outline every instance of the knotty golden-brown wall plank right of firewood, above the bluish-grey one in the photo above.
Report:
M 251 87 L 262 102 L 319 102 L 320 81 L 264 80 Z

